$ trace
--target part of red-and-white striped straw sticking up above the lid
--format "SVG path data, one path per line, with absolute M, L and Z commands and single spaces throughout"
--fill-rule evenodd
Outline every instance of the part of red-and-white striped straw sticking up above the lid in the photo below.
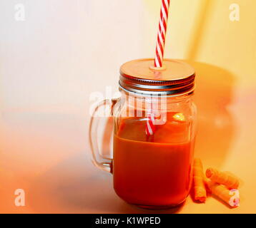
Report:
M 164 58 L 164 46 L 165 46 L 165 36 L 167 32 L 167 21 L 169 16 L 169 1 L 162 0 L 160 20 L 159 20 L 159 29 L 157 35 L 157 47 L 156 47 L 156 56 L 154 58 L 154 66 L 162 67 L 162 61 Z

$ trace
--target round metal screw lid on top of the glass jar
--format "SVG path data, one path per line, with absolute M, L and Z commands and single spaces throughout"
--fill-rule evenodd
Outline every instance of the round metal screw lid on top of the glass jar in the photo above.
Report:
M 153 58 L 124 63 L 119 86 L 144 95 L 184 95 L 195 90 L 195 70 L 176 59 L 164 59 L 163 68 L 154 68 Z

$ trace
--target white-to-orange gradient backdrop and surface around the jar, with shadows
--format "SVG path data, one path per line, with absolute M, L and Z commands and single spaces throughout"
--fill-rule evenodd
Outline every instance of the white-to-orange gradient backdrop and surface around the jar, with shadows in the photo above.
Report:
M 160 0 L 0 2 L 0 212 L 152 213 L 126 204 L 90 161 L 91 93 L 154 57 Z M 230 21 L 230 4 L 240 21 Z M 197 71 L 196 156 L 242 180 L 240 207 L 214 198 L 159 213 L 255 213 L 256 1 L 171 0 L 165 57 Z M 110 94 L 111 95 L 111 94 Z M 109 96 L 107 94 L 107 96 Z M 26 206 L 14 205 L 14 191 Z M 157 212 L 158 213 L 158 212 Z

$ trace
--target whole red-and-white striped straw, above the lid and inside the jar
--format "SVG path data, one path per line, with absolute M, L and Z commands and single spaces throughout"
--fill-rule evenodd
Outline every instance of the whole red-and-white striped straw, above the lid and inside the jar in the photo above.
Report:
M 154 67 L 162 68 L 162 62 L 164 58 L 164 46 L 165 46 L 165 37 L 167 32 L 167 21 L 169 16 L 169 1 L 170 0 L 162 0 L 160 20 L 159 20 L 159 29 L 157 34 L 157 47 L 156 47 L 156 56 L 154 58 Z M 155 132 L 155 118 L 154 111 L 150 110 L 147 113 L 147 127 L 146 134 L 154 135 Z

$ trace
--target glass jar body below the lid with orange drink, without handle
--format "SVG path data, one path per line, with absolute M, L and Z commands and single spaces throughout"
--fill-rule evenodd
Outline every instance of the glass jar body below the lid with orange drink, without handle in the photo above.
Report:
M 140 207 L 184 202 L 192 184 L 196 107 L 192 94 L 149 97 L 122 91 L 114 109 L 114 190 Z M 147 135 L 147 112 L 157 119 Z

